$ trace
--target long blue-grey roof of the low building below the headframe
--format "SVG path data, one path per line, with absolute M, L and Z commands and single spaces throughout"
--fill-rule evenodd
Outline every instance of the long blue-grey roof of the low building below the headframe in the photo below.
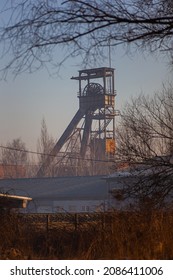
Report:
M 6 179 L 0 180 L 0 192 L 33 200 L 104 200 L 108 196 L 100 176 Z

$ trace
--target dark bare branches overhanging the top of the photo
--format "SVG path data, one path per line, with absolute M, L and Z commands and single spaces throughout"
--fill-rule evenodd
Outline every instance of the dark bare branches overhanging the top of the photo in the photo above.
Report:
M 12 59 L 4 70 L 35 71 L 57 63 L 57 46 L 68 56 L 100 60 L 104 47 L 134 43 L 149 51 L 173 52 L 171 0 L 14 0 L 1 12 L 2 57 Z M 62 59 L 64 61 L 64 57 Z

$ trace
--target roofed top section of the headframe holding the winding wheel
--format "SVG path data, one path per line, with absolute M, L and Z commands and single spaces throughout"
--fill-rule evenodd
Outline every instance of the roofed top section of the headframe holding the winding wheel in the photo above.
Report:
M 114 107 L 114 68 L 101 67 L 80 70 L 79 81 L 79 107 L 82 111 L 95 111 L 100 108 Z

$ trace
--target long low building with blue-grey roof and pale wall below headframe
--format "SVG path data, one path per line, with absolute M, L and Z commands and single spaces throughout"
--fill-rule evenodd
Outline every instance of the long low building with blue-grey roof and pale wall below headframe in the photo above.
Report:
M 119 188 L 121 183 L 113 184 Z M 100 176 L 74 176 L 0 180 L 0 192 L 31 197 L 24 212 L 81 213 L 100 212 L 125 207 L 116 200 L 109 184 Z

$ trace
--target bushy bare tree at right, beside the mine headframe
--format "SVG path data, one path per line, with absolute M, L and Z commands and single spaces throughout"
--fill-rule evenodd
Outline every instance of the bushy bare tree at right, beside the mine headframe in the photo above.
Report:
M 173 87 L 133 98 L 117 129 L 117 157 L 129 164 L 128 195 L 160 205 L 173 191 Z M 127 179 L 127 178 L 126 178 Z M 127 182 L 130 182 L 127 180 Z M 169 201 L 170 202 L 170 201 Z

